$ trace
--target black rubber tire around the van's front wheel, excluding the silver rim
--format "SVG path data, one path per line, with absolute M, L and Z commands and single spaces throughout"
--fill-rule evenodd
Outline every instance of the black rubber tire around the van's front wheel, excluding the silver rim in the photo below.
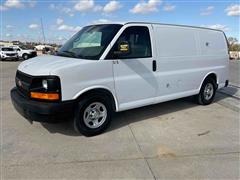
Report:
M 89 108 L 91 104 L 97 102 L 103 104 L 106 107 L 107 111 L 106 119 L 102 124 L 100 123 L 101 125 L 99 127 L 90 128 L 88 126 L 91 125 L 90 124 L 87 125 L 86 122 L 84 121 L 84 114 L 86 113 L 87 108 Z M 111 106 L 111 101 L 107 96 L 91 94 L 88 97 L 81 99 L 77 105 L 77 108 L 75 109 L 75 116 L 73 121 L 74 129 L 75 131 L 85 136 L 95 136 L 101 134 L 110 125 L 112 112 L 113 110 Z

